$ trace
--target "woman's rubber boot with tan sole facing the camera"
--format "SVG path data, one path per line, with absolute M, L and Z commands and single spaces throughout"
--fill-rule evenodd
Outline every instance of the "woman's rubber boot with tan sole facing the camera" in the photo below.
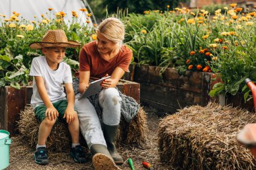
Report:
M 113 161 L 108 148 L 103 144 L 92 144 L 90 151 L 95 170 L 121 170 Z

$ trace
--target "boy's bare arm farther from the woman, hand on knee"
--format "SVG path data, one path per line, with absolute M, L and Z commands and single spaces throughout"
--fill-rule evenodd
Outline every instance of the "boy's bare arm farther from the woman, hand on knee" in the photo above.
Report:
M 42 77 L 40 76 L 34 76 L 34 79 L 36 81 L 38 93 L 42 101 L 44 101 L 44 105 L 46 106 L 45 116 L 51 120 L 55 120 L 57 116 L 59 116 L 59 112 L 55 109 L 53 103 L 49 99 L 49 96 L 44 86 L 44 79 L 42 79 Z

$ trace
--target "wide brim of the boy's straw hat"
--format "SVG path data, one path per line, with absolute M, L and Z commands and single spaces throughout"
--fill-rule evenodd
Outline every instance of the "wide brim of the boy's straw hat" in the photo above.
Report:
M 77 48 L 79 47 L 79 42 L 69 40 L 67 42 L 32 42 L 29 47 L 32 49 L 41 49 L 46 47 L 66 47 L 66 48 Z

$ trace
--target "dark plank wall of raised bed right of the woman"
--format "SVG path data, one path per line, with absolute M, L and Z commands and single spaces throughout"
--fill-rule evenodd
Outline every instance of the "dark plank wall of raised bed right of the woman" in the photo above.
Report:
M 160 75 L 160 69 L 131 65 L 131 73 L 125 75 L 125 79 L 140 83 L 142 102 L 171 113 L 189 105 L 207 105 L 213 99 L 208 93 L 220 82 L 214 79 L 213 73 L 186 71 L 185 75 L 179 75 L 177 69 L 168 68 Z

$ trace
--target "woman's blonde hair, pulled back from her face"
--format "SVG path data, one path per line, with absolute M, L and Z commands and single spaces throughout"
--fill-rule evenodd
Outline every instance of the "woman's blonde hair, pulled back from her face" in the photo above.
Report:
M 100 32 L 108 40 L 119 44 L 120 47 L 125 39 L 125 26 L 115 17 L 104 19 L 98 26 L 97 32 Z

